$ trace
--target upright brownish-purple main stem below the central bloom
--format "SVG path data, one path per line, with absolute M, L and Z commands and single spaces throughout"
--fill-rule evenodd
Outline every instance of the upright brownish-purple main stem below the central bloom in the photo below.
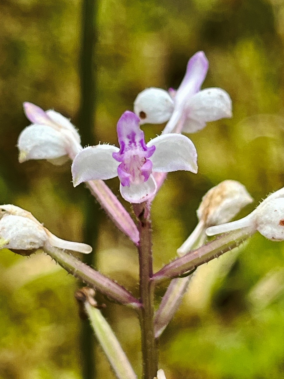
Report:
M 142 309 L 140 312 L 141 346 L 143 359 L 143 379 L 153 379 L 158 371 L 158 352 L 154 335 L 154 283 L 152 264 L 152 233 L 150 209 L 147 203 L 133 205 L 138 219 L 140 242 L 139 271 L 140 271 L 140 298 Z

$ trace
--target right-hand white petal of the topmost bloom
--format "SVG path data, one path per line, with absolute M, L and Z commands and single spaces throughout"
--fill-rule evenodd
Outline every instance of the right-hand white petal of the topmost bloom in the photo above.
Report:
M 216 121 L 232 117 L 232 101 L 228 93 L 221 88 L 206 88 L 197 92 L 186 101 L 187 119 L 195 120 L 200 125 L 204 122 Z M 187 125 L 189 132 L 190 125 Z M 190 132 L 195 132 L 196 126 Z M 200 130 L 198 128 L 197 130 Z

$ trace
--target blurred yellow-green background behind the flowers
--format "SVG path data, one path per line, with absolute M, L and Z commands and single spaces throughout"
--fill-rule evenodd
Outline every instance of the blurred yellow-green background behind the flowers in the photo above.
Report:
M 254 205 L 284 185 L 284 2 L 97 2 L 97 31 L 93 46 L 86 45 L 84 52 L 86 64 L 93 60 L 95 74 L 95 83 L 84 92 L 85 103 L 95 93 L 91 132 L 84 124 L 80 89 L 80 83 L 89 83 L 80 58 L 82 9 L 77 0 L 1 0 L 0 202 L 31 211 L 61 238 L 85 242 L 90 241 L 84 230 L 91 209 L 95 217 L 88 230 L 98 234 L 93 265 L 137 296 L 133 245 L 83 185 L 73 189 L 70 163 L 18 163 L 17 137 L 29 124 L 22 102 L 70 117 L 84 146 L 115 144 L 116 122 L 132 109 L 136 95 L 149 86 L 177 88 L 188 59 L 204 50 L 209 72 L 203 88 L 225 89 L 233 100 L 233 118 L 210 123 L 191 136 L 198 174 L 169 174 L 154 200 L 158 269 L 193 230 L 195 210 L 213 185 L 239 180 Z M 143 128 L 148 140 L 162 126 Z M 118 180 L 109 185 L 119 196 Z M 160 367 L 167 379 L 284 378 L 283 255 L 282 243 L 256 235 L 241 251 L 202 266 L 161 337 Z M 0 378 L 83 378 L 86 352 L 80 348 L 82 322 L 73 298 L 80 283 L 43 254 L 24 258 L 3 250 L 0 273 Z M 157 304 L 164 290 L 158 288 Z M 98 300 L 106 303 L 103 313 L 140 373 L 136 314 L 101 296 Z M 95 356 L 96 377 L 114 378 L 99 347 Z

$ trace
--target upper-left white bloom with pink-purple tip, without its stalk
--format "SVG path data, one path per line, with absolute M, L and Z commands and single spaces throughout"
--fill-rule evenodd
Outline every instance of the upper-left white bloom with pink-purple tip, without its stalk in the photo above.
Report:
M 82 149 L 80 136 L 71 122 L 53 110 L 44 111 L 32 103 L 23 103 L 32 122 L 19 135 L 19 161 L 47 159 L 54 164 L 73 159 Z

